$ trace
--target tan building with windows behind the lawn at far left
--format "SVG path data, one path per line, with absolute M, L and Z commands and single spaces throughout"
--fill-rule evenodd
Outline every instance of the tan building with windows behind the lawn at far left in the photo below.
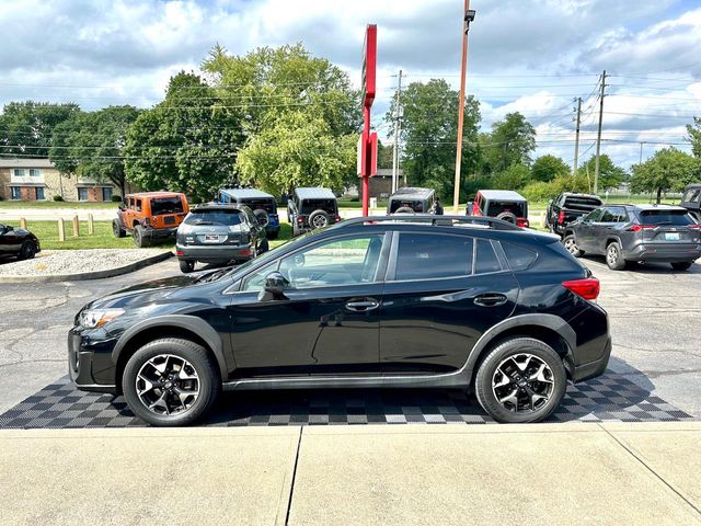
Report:
M 128 188 L 127 188 L 128 190 Z M 5 201 L 112 201 L 122 190 L 112 182 L 61 175 L 48 159 L 0 158 L 0 198 Z

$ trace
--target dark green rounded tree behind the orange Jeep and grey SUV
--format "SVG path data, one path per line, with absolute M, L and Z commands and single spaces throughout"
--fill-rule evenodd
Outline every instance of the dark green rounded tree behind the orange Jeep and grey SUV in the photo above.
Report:
M 127 180 L 198 201 L 232 184 L 243 134 L 226 105 L 199 76 L 183 71 L 171 78 L 165 100 L 141 113 L 127 133 Z

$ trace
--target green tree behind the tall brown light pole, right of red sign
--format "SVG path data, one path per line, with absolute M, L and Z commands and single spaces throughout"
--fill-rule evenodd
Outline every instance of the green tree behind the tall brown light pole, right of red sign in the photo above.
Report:
M 452 197 L 455 186 L 456 145 L 458 140 L 458 91 L 443 79 L 412 82 L 402 92 L 402 170 L 410 184 L 435 188 L 444 199 Z M 393 133 L 395 102 L 386 115 Z M 478 130 L 480 103 L 469 95 L 466 100 L 462 164 L 460 167 L 464 193 L 466 182 L 478 165 Z

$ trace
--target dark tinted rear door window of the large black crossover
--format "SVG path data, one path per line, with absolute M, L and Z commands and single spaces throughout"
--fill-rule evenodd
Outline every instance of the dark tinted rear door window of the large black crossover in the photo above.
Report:
M 402 233 L 394 279 L 429 279 L 472 274 L 472 238 Z

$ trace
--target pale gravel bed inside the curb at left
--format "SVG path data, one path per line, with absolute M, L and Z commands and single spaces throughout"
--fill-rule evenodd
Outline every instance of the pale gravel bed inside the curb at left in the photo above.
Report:
M 44 250 L 34 260 L 0 264 L 0 276 L 54 276 L 106 271 L 166 252 L 166 249 Z

